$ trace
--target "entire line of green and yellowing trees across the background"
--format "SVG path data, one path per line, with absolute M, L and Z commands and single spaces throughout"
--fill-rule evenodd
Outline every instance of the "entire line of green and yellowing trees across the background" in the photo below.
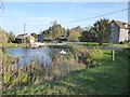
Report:
M 0 30 L 2 42 L 11 43 L 15 40 L 15 36 L 12 31 L 5 32 L 1 28 Z M 31 32 L 30 34 L 36 39 L 38 38 L 38 34 L 42 34 L 46 39 L 52 41 L 60 41 L 61 38 L 67 38 L 69 42 L 98 42 L 99 45 L 103 45 L 104 42 L 109 41 L 110 24 L 108 23 L 108 19 L 103 18 L 96 20 L 93 26 L 87 27 L 86 29 L 80 26 L 65 29 L 61 24 L 55 23 L 52 27 L 49 27 L 39 33 Z

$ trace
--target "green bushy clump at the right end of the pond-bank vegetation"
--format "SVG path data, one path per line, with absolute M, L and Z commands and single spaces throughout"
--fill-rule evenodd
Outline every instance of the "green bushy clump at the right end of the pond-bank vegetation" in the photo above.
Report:
M 82 45 L 70 44 L 70 52 L 79 63 L 83 63 L 87 68 L 100 66 L 96 59 L 103 57 L 99 48 L 86 48 Z

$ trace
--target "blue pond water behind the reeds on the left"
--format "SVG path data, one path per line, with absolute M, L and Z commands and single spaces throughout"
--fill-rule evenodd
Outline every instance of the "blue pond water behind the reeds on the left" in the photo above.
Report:
M 31 48 L 31 47 L 11 47 L 5 48 L 8 54 L 11 54 L 15 57 L 20 57 L 17 66 L 24 66 L 25 61 L 31 65 L 31 60 L 38 61 L 39 65 L 50 65 L 52 59 L 50 57 L 51 48 L 49 47 L 40 47 L 40 48 Z

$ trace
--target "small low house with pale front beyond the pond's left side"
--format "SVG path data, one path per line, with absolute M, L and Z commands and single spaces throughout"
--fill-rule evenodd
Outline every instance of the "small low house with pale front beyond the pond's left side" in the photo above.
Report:
M 28 33 L 18 34 L 15 39 L 15 43 L 34 43 L 35 38 Z

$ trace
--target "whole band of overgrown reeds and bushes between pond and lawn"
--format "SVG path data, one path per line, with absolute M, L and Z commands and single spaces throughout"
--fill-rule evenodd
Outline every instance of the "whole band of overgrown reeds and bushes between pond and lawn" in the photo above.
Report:
M 51 53 L 52 65 L 39 65 L 32 61 L 30 66 L 25 61 L 24 67 L 8 66 L 3 63 L 3 88 L 9 89 L 15 86 L 25 86 L 32 84 L 46 84 L 63 79 L 68 73 L 84 68 L 94 68 L 99 66 L 98 57 L 103 57 L 100 50 L 86 48 L 84 46 L 70 45 L 66 48 L 67 54 L 60 54 L 60 50 Z M 94 56 L 95 53 L 95 56 Z

